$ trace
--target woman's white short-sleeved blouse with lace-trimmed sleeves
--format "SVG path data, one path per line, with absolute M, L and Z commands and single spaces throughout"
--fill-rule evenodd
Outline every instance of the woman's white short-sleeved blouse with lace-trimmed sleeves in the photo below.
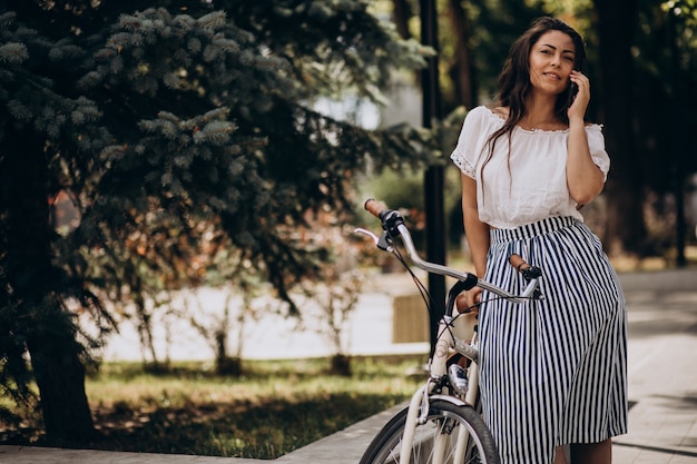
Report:
M 567 186 L 569 130 L 516 127 L 511 134 L 510 159 L 509 139 L 504 134 L 487 161 L 490 152 L 487 140 L 503 124 L 503 118 L 487 107 L 472 109 L 450 156 L 464 175 L 477 181 L 480 220 L 501 229 L 552 216 L 571 216 L 582 221 Z M 607 179 L 610 158 L 605 150 L 602 127 L 586 126 L 586 134 L 590 156 Z

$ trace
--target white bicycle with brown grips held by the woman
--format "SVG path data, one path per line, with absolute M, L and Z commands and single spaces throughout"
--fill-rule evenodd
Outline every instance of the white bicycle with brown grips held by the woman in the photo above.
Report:
M 455 310 L 457 299 L 462 292 L 475 286 L 514 303 L 542 299 L 538 288 L 541 270 L 512 255 L 510 264 L 527 280 L 522 294 L 512 295 L 474 274 L 421 259 L 404 217 L 397 210 L 387 209 L 374 199 L 369 199 L 364 206 L 381 220 L 383 233 L 380 237 L 363 228 L 356 228 L 355 233 L 371 237 L 377 248 L 396 257 L 414 279 L 430 312 L 435 303 L 402 256 L 395 239 L 401 239 L 415 267 L 452 277 L 455 283 L 448 293 L 445 312 L 439 322 L 426 382 L 414 393 L 409 406 L 377 433 L 360 464 L 498 464 L 499 454 L 479 405 L 477 325 L 459 324 L 462 315 L 471 317 L 477 313 L 474 308 Z

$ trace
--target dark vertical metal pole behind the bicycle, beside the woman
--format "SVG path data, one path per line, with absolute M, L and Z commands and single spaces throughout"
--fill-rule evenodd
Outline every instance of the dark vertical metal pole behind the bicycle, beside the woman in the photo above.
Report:
M 420 0 L 421 42 L 436 51 L 429 58 L 429 66 L 422 71 L 421 87 L 423 90 L 422 125 L 432 127 L 432 121 L 441 119 L 441 96 L 438 79 L 438 16 L 435 0 Z M 426 259 L 432 263 L 445 264 L 445 213 L 443 207 L 442 166 L 431 166 L 424 174 L 424 206 L 426 215 Z M 429 293 L 433 299 L 431 314 L 431 352 L 438 336 L 438 322 L 443 315 L 445 304 L 445 277 L 429 275 Z

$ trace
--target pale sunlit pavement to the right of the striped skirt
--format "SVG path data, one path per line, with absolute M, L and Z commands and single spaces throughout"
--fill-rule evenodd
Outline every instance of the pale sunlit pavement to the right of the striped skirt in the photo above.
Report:
M 697 463 L 697 270 L 621 275 L 629 308 L 629 433 L 616 464 Z

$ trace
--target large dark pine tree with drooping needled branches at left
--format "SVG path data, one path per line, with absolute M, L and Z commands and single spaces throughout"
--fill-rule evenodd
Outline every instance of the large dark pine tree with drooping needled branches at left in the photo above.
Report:
M 33 374 L 50 438 L 92 435 L 69 302 L 109 330 L 98 295 L 195 284 L 187 264 L 214 245 L 297 310 L 288 288 L 324 256 L 296 233 L 307 211 L 353 208 L 369 160 L 431 155 L 416 130 L 312 109 L 346 91 L 380 101 L 394 69 L 423 63 L 367 1 L 4 3 L 0 368 L 17 398 Z M 59 192 L 80 214 L 68 234 L 49 221 Z

